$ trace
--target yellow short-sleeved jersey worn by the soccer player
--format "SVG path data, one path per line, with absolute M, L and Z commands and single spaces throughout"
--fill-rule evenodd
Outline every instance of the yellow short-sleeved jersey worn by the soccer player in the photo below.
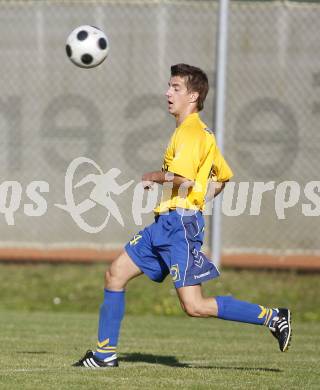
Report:
M 212 130 L 201 121 L 198 113 L 188 115 L 175 129 L 164 155 L 162 170 L 183 176 L 194 185 L 183 191 L 165 182 L 155 213 L 177 207 L 203 210 L 208 181 L 224 182 L 233 176 Z

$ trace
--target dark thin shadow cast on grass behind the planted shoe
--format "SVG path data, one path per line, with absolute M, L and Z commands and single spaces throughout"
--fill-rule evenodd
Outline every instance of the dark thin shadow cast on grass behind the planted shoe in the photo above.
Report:
M 282 372 L 278 368 L 268 367 L 233 367 L 233 366 L 213 366 L 213 365 L 200 365 L 200 364 L 188 364 L 181 363 L 175 356 L 158 356 L 144 353 L 126 353 L 121 354 L 120 360 L 130 363 L 149 363 L 149 364 L 162 364 L 169 367 L 182 367 L 182 368 L 204 368 L 214 370 L 239 370 L 239 371 L 263 371 L 263 372 Z

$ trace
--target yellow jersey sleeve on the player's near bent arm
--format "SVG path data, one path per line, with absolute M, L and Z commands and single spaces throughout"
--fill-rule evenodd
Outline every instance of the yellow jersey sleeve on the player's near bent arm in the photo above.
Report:
M 173 159 L 168 166 L 168 171 L 195 180 L 202 150 L 202 138 L 195 139 L 192 133 L 185 129 L 173 140 Z

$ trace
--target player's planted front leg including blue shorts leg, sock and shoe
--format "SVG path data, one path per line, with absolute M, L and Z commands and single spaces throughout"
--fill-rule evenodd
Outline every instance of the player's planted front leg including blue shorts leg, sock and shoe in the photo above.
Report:
M 125 251 L 107 270 L 104 302 L 100 308 L 98 346 L 95 352 L 88 351 L 76 366 L 117 366 L 116 346 L 124 315 L 126 284 L 142 273 L 156 282 L 161 282 L 169 274 L 168 267 L 157 255 L 152 242 L 152 237 L 162 231 L 157 221 L 135 234 L 126 244 Z

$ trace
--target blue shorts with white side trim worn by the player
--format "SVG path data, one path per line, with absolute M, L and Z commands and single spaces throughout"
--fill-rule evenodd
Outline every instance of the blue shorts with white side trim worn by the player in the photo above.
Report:
M 200 211 L 171 210 L 135 234 L 125 246 L 133 262 L 151 280 L 161 283 L 170 273 L 176 288 L 201 284 L 219 271 L 201 251 L 204 218 Z M 191 215 L 190 215 L 191 214 Z

